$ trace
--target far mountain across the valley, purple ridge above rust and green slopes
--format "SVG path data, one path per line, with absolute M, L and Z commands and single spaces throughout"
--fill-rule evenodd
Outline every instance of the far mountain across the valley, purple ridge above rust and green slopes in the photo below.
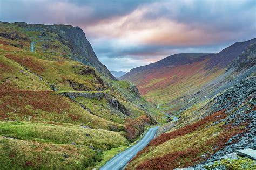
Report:
M 134 83 L 147 100 L 159 104 L 164 111 L 178 113 L 232 79 L 233 72 L 225 72 L 228 65 L 255 42 L 255 38 L 237 42 L 217 54 L 171 55 L 133 68 L 120 79 Z M 230 76 L 221 76 L 223 74 Z

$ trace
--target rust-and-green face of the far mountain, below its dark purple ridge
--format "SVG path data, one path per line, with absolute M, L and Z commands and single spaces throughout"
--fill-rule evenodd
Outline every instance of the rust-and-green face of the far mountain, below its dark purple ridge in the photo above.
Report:
M 205 84 L 225 72 L 225 69 L 205 69 L 207 60 L 185 65 L 143 70 L 130 77 L 147 100 L 165 111 L 177 112 Z

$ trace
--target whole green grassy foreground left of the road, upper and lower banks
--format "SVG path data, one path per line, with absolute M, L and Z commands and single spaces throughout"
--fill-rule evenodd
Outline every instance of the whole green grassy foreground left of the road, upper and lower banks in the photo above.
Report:
M 24 121 L 0 121 L 0 136 L 1 169 L 93 168 L 95 162 L 106 159 L 97 150 L 109 152 L 128 142 L 118 132 Z

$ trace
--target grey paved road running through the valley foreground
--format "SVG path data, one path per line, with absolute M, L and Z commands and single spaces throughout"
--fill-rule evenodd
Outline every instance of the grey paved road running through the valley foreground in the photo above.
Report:
M 150 128 L 144 137 L 137 144 L 121 152 L 106 162 L 100 170 L 118 170 L 122 169 L 140 150 L 142 150 L 153 138 L 159 127 Z

